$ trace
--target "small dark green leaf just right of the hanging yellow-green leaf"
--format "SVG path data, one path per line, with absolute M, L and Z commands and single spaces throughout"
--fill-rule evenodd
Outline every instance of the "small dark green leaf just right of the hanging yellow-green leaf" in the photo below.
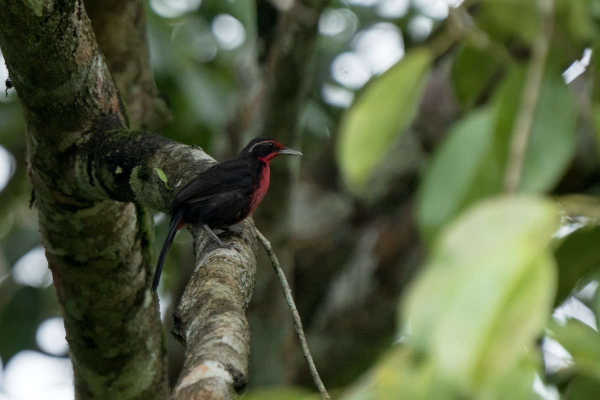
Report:
M 487 52 L 465 44 L 452 65 L 452 87 L 464 109 L 469 109 L 489 89 L 490 79 L 499 68 Z

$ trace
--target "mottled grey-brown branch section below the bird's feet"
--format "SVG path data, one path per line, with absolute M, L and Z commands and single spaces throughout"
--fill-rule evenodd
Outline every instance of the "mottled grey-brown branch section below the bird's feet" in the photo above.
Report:
M 245 310 L 256 276 L 253 222 L 244 228 L 242 253 L 214 248 L 210 237 L 196 236 L 201 255 L 175 312 L 173 334 L 187 348 L 173 399 L 231 399 L 248 384 L 250 329 Z M 240 246 L 240 243 L 236 243 Z

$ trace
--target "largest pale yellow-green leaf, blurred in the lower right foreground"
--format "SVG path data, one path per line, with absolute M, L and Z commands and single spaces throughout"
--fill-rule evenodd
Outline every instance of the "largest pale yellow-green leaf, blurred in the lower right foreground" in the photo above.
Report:
M 556 206 L 497 197 L 467 210 L 434 246 L 404 308 L 418 351 L 472 389 L 519 362 L 551 311 L 556 284 L 548 244 Z

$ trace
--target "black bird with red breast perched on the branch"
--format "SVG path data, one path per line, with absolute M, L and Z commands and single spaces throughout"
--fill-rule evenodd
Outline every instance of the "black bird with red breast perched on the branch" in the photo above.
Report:
M 154 270 L 152 292 L 158 287 L 173 237 L 184 225 L 202 227 L 218 245 L 236 249 L 223 243 L 212 230 L 226 229 L 253 213 L 269 188 L 269 163 L 281 154 L 302 155 L 275 140 L 253 139 L 238 157 L 209 167 L 181 188 L 169 212 L 171 222 Z

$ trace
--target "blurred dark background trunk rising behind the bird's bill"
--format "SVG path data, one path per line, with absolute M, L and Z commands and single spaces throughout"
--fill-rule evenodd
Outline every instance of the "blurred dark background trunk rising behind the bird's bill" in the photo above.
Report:
M 259 35 L 265 44 L 262 53 L 263 92 L 261 105 L 257 107 L 258 136 L 272 137 L 286 146 L 300 149 L 301 116 L 309 98 L 310 83 L 313 78 L 314 56 L 318 38 L 319 15 L 327 0 L 301 0 L 295 2 L 270 1 L 266 5 L 259 3 L 257 15 L 259 21 L 276 21 L 271 29 L 260 28 Z M 290 5 L 282 8 L 282 5 Z M 277 8 L 274 13 L 274 8 Z M 292 163 L 273 163 L 271 166 L 271 185 L 269 194 L 254 213 L 257 225 L 271 240 L 281 264 L 288 277 L 293 276 L 293 254 L 289 247 L 290 205 L 292 193 L 298 180 L 298 161 Z M 251 307 L 252 320 L 256 329 L 271 330 L 268 342 L 254 341 L 257 348 L 268 351 L 253 353 L 253 366 L 264 370 L 268 366 L 271 381 L 282 383 L 293 380 L 294 360 L 287 354 L 290 341 L 294 341 L 293 330 L 281 325 L 280 320 L 287 318 L 287 309 L 283 302 L 274 303 L 279 296 L 277 279 L 268 269 L 259 269 L 259 281 Z M 290 282 L 293 285 L 293 282 Z M 263 324 L 263 326 L 259 326 Z M 260 339 L 259 335 L 256 335 Z M 261 371 L 262 372 L 262 371 Z M 263 376 L 266 374 L 262 374 Z

